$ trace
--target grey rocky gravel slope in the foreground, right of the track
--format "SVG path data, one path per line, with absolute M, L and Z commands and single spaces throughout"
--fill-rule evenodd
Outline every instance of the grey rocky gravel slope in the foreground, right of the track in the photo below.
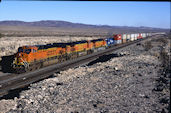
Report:
M 131 45 L 31 84 L 19 98 L 0 100 L 0 111 L 167 113 L 170 75 L 164 59 L 169 50 L 168 39 Z

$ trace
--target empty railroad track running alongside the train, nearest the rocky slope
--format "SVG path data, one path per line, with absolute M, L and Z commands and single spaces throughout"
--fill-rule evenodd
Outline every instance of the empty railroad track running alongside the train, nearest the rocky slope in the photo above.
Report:
M 63 63 L 44 67 L 36 71 L 22 73 L 22 74 L 9 74 L 7 76 L 0 77 L 0 97 L 7 95 L 9 91 L 11 90 L 22 88 L 22 87 L 28 86 L 29 84 L 33 82 L 47 78 L 53 75 L 53 73 L 55 72 L 59 72 L 59 71 L 62 71 L 71 67 L 73 68 L 81 64 L 85 64 L 86 62 L 90 62 L 98 58 L 99 56 L 110 54 L 114 50 L 121 49 L 131 44 L 139 43 L 140 41 L 143 41 L 149 38 L 136 40 L 133 42 L 128 42 L 128 43 L 117 45 L 117 46 L 112 46 L 111 48 L 106 49 L 106 50 L 102 50 L 102 51 L 99 51 L 90 55 L 82 56 L 77 59 L 72 59 Z

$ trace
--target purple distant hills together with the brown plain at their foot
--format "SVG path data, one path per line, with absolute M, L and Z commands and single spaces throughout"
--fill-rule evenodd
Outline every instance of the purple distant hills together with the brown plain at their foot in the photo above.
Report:
M 12 32 L 9 32 L 12 31 Z M 22 33 L 21 33 L 22 31 Z M 37 33 L 39 32 L 39 34 Z M 14 33 L 15 32 L 15 33 Z M 129 27 L 129 26 L 109 26 L 109 25 L 89 25 L 82 23 L 72 23 L 67 21 L 42 20 L 35 22 L 24 21 L 0 21 L 0 33 L 6 35 L 56 35 L 56 34 L 108 34 L 108 33 L 136 33 L 136 32 L 169 32 L 169 29 L 152 27 Z M 26 33 L 27 32 L 27 33 Z M 28 33 L 30 32 L 30 33 Z M 53 32 L 53 33 L 52 33 Z M 92 33 L 93 32 L 93 33 Z

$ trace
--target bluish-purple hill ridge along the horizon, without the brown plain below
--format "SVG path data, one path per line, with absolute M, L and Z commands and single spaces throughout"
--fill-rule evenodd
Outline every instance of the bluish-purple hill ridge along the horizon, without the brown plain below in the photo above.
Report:
M 108 25 L 89 25 L 81 23 L 71 23 L 66 21 L 35 21 L 35 22 L 24 22 L 24 21 L 0 21 L 0 25 L 5 26 L 32 26 L 32 27 L 68 27 L 68 28 L 139 28 L 139 29 L 160 29 L 152 27 L 128 27 L 128 26 L 108 26 Z

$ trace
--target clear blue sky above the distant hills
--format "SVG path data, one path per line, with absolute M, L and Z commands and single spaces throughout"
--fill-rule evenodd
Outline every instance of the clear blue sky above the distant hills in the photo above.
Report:
M 7 1 L 0 3 L 0 21 L 62 20 L 111 26 L 170 29 L 170 2 Z

